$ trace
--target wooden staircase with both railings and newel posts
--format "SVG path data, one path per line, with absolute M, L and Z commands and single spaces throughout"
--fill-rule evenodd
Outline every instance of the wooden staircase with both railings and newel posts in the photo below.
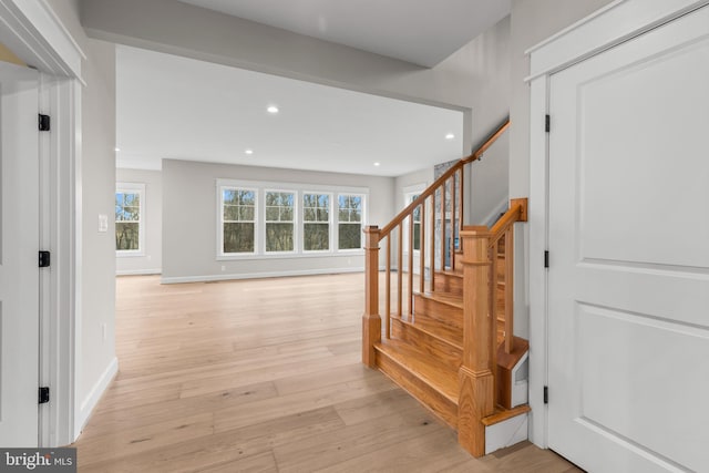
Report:
M 507 126 L 389 225 L 364 230 L 363 362 L 458 430 L 459 442 L 475 456 L 526 439 L 530 411 L 525 381 L 518 379 L 528 343 L 513 336 L 512 315 L 513 224 L 526 222 L 526 199 L 512 200 L 492 228 L 464 226 L 462 217 L 464 166 Z M 418 248 L 414 210 L 421 214 Z

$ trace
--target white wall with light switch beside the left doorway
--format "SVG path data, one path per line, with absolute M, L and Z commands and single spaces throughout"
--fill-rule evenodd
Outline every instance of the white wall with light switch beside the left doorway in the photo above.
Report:
M 79 0 L 47 0 L 86 54 L 82 74 L 81 158 L 76 181 L 82 239 L 76 273 L 75 413 L 82 424 L 115 372 L 115 45 L 89 39 L 79 22 Z M 99 232 L 99 215 L 109 228 Z M 76 425 L 81 428 L 81 425 Z

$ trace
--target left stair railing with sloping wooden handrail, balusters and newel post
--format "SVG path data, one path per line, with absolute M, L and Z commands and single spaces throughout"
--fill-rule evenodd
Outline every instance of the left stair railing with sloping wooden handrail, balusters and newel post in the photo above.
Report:
M 460 271 L 456 254 L 460 255 L 462 248 L 460 235 L 464 225 L 465 166 L 480 160 L 508 127 L 510 121 L 506 120 L 473 154 L 460 160 L 445 171 L 383 228 L 380 229 L 377 226 L 364 228 L 366 308 L 364 339 L 362 340 L 364 364 L 374 366 L 373 346 L 381 340 L 380 247 L 384 247 L 383 312 L 384 333 L 389 338 L 391 315 L 410 317 L 413 313 L 414 288 L 418 288 L 419 292 L 424 292 L 428 281 L 428 290 L 433 292 L 436 271 Z M 392 257 L 395 257 L 397 264 L 393 288 Z

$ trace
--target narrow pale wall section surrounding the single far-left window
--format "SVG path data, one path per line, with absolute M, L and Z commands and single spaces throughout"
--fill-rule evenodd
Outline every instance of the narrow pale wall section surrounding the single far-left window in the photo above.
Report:
M 145 234 L 144 254 L 115 259 L 117 275 L 156 275 L 163 267 L 163 173 L 161 171 L 117 168 L 116 182 L 145 184 L 142 205 Z

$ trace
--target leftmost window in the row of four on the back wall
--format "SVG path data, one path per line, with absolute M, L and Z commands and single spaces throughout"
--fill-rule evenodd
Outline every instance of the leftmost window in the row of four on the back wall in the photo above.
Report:
M 222 188 L 222 218 L 223 253 L 255 253 L 256 191 Z

